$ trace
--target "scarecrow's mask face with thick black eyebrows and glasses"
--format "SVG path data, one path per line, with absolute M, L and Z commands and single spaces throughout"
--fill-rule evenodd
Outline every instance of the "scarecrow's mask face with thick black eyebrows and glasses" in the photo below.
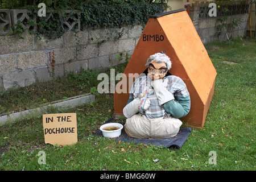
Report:
M 151 61 L 148 66 L 148 73 L 151 73 L 153 80 L 163 78 L 167 73 L 166 63 L 156 63 L 155 61 Z

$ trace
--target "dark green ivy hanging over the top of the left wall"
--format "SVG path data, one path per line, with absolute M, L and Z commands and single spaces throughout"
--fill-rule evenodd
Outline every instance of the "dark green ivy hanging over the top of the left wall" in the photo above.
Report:
M 164 3 L 166 1 L 168 0 L 155 2 L 148 0 L 27 0 L 26 6 L 22 6 L 24 5 L 22 1 L 10 0 L 9 6 L 11 6 L 11 2 L 20 2 L 19 6 L 22 6 L 19 7 L 20 9 L 26 8 L 31 12 L 31 15 L 36 19 L 34 34 L 39 39 L 41 39 L 40 36 L 42 35 L 49 39 L 57 39 L 66 31 L 64 21 L 67 13 L 65 13 L 65 10 L 80 10 L 81 14 L 77 14 L 77 11 L 71 11 L 70 18 L 76 17 L 80 19 L 81 30 L 86 28 L 133 27 L 136 23 L 144 26 L 150 15 L 162 13 L 164 6 L 167 6 Z M 0 5 L 2 8 L 6 8 L 7 1 L 3 2 Z M 56 11 L 56 16 L 51 16 L 48 19 L 44 16 L 38 16 L 39 8 L 37 5 L 40 2 L 46 3 L 47 11 Z M 13 6 L 12 4 L 12 8 Z M 62 16 L 58 16 L 58 13 L 62 14 Z M 28 20 L 28 23 L 31 23 L 31 26 L 35 26 L 35 24 L 32 24 L 32 20 Z M 76 28 L 73 27 L 72 30 L 75 31 Z M 18 24 L 15 24 L 15 28 L 13 27 L 12 33 L 18 34 L 22 38 L 24 31 L 26 29 L 20 26 L 20 22 L 18 22 Z M 33 33 L 31 30 L 29 32 Z

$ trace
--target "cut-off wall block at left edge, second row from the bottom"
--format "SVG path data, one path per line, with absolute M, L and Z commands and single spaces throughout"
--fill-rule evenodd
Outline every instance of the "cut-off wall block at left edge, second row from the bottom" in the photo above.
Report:
M 16 70 L 16 55 L 0 56 L 0 75 Z

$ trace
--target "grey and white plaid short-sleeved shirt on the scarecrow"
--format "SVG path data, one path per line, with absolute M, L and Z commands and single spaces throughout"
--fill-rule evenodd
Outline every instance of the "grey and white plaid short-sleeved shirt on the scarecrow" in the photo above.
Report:
M 168 79 L 167 90 L 174 94 L 174 97 L 189 96 L 187 86 L 181 78 L 171 75 L 164 77 L 164 80 L 165 79 Z M 139 94 L 143 93 L 144 87 L 148 85 L 149 89 L 147 98 L 150 100 L 150 106 L 142 114 L 146 115 L 148 118 L 159 118 L 164 117 L 165 115 L 170 116 L 170 114 L 164 110 L 163 105 L 159 105 L 158 97 L 156 97 L 154 89 L 150 83 L 147 82 L 147 76 L 138 77 L 131 86 L 129 99 L 134 100 L 134 98 L 138 98 Z

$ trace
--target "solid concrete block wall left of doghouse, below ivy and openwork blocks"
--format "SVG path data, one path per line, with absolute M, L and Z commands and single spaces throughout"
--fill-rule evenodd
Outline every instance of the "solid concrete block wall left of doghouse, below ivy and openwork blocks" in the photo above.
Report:
M 135 25 L 68 31 L 56 40 L 39 40 L 30 34 L 23 34 L 24 39 L 18 35 L 0 36 L 0 91 L 30 85 L 36 80 L 52 80 L 71 71 L 80 72 L 81 68 L 114 67 L 124 61 L 117 58 L 121 52 L 133 53 L 142 31 L 141 25 Z M 118 39 L 120 32 L 122 36 Z

